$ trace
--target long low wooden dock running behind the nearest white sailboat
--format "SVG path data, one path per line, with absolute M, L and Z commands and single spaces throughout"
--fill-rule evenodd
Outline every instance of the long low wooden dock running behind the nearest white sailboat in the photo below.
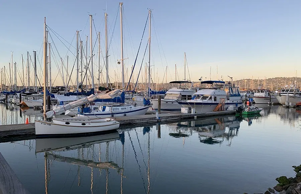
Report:
M 159 119 L 155 114 L 139 115 L 139 116 L 125 116 L 115 117 L 114 119 L 120 123 L 120 128 L 137 127 L 141 125 L 148 125 L 152 123 L 187 120 L 194 118 L 220 117 L 226 115 L 234 115 L 235 111 L 219 111 L 196 114 L 185 114 L 179 112 L 162 111 L 159 114 Z M 16 125 L 2 125 L 0 126 L 0 142 L 19 141 L 24 139 L 34 139 L 35 137 L 34 123 L 30 124 L 16 124 Z

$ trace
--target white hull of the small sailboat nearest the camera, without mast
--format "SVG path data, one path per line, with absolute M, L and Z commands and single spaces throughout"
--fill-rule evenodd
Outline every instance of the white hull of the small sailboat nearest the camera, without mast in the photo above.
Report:
M 63 118 L 53 122 L 35 120 L 35 135 L 76 135 L 102 132 L 119 128 L 119 122 L 113 119 Z

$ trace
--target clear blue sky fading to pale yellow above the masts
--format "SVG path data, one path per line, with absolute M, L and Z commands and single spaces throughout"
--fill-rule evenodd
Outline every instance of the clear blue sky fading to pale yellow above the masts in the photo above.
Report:
M 254 79 L 258 77 L 262 79 L 265 76 L 295 76 L 296 70 L 298 75 L 301 73 L 300 0 L 124 0 L 123 2 L 124 57 L 129 58 L 126 62 L 129 69 L 134 63 L 134 55 L 148 14 L 147 8 L 153 10 L 151 58 L 155 72 L 158 71 L 160 82 L 166 65 L 169 68 L 167 81 L 174 80 L 174 64 L 178 66 L 180 79 L 184 78 L 184 52 L 187 54 L 191 79 L 194 81 L 201 76 L 208 79 L 210 66 L 212 79 L 217 77 L 217 66 L 218 77 L 230 75 L 234 79 L 252 76 Z M 18 65 L 21 64 L 21 54 L 26 54 L 27 51 L 32 54 L 33 50 L 40 52 L 44 16 L 47 17 L 49 27 L 75 46 L 74 39 L 72 41 L 75 31 L 82 30 L 81 37 L 85 39 L 85 35 L 89 35 L 88 14 L 96 14 L 93 17 L 96 30 L 101 32 L 103 49 L 103 15 L 104 9 L 107 8 L 111 29 L 109 33 L 113 36 L 109 51 L 110 76 L 113 81 L 114 70 L 117 77 L 121 76 L 120 66 L 116 65 L 117 59 L 120 59 L 119 15 L 112 33 L 118 6 L 119 1 L 115 0 L 1 2 L 0 67 L 8 64 L 11 51 L 14 52 L 14 61 Z M 141 63 L 147 35 L 146 32 L 137 65 Z M 55 43 L 61 56 L 65 57 L 66 47 L 58 40 Z M 74 49 L 71 49 L 74 53 Z M 73 64 L 74 57 L 70 53 L 68 55 L 69 63 Z M 40 58 L 41 53 L 39 60 Z

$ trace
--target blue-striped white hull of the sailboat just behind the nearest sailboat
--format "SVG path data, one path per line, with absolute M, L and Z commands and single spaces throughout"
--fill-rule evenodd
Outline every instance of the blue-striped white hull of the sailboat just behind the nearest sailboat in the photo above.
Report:
M 137 107 L 137 106 L 135 106 Z M 109 111 L 99 111 L 94 113 L 82 113 L 78 116 L 88 116 L 89 118 L 108 118 L 108 117 L 124 117 L 124 116 L 137 116 L 145 115 L 148 110 L 148 106 L 143 106 L 141 108 L 136 108 L 131 111 L 120 111 L 120 112 L 109 112 Z

